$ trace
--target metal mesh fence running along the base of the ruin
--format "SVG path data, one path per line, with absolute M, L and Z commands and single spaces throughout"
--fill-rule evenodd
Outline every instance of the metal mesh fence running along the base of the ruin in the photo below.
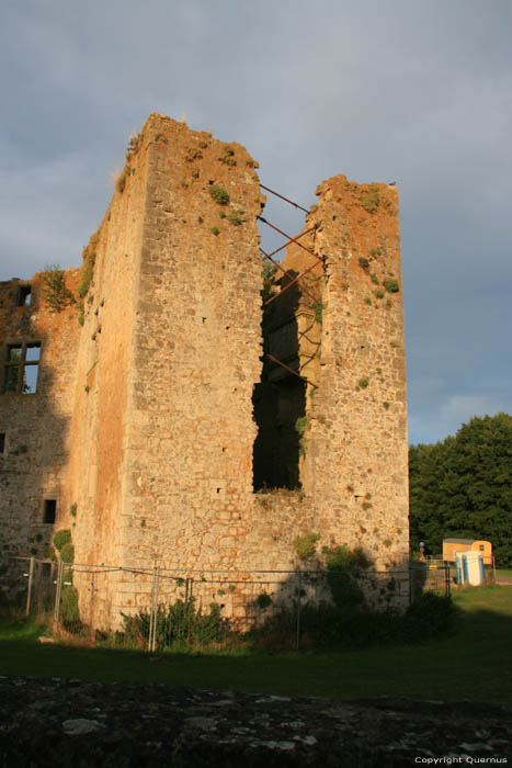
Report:
M 301 614 L 328 606 L 332 596 L 337 600 L 337 591 L 343 599 L 343 590 L 357 589 L 377 610 L 406 609 L 425 591 L 450 594 L 450 568 L 425 564 L 399 572 L 350 574 L 349 585 L 346 572 L 322 569 L 126 568 L 31 557 L 16 560 L 12 579 L 19 608 L 25 608 L 27 614 L 53 610 L 54 633 L 88 642 L 106 637 L 121 642 L 132 632 L 150 651 L 163 642 L 162 633 L 169 634 L 169 623 L 177 625 L 173 636 L 178 639 L 180 626 L 182 633 L 195 631 L 190 629 L 191 621 L 183 629 L 185 618 L 206 632 L 208 617 L 215 613 L 224 625 L 243 632 L 286 612 L 298 648 Z

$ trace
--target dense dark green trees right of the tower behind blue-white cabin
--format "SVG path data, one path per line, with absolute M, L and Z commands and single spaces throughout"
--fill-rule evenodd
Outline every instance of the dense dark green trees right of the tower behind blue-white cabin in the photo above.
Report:
M 497 565 L 512 563 L 512 417 L 475 416 L 442 442 L 409 449 L 411 547 L 483 539 Z

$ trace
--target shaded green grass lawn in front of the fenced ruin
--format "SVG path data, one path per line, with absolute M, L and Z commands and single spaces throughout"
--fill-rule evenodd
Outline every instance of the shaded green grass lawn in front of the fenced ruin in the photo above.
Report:
M 0 621 L 0 674 L 135 680 L 249 692 L 512 701 L 512 587 L 454 595 L 453 632 L 424 644 L 268 654 L 204 655 L 42 645 L 33 621 Z

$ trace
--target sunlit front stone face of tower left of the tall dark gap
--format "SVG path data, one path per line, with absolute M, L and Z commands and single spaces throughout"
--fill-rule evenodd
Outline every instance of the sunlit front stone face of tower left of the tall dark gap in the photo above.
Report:
M 124 545 L 229 567 L 251 524 L 262 197 L 240 145 L 158 116 L 147 134 Z

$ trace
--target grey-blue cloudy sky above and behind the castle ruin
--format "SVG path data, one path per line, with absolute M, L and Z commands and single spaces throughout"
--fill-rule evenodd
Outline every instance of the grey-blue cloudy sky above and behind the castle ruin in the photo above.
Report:
M 1 0 L 0 280 L 79 266 L 133 129 L 186 115 L 306 207 L 396 180 L 410 441 L 512 413 L 511 41 L 510 0 Z

